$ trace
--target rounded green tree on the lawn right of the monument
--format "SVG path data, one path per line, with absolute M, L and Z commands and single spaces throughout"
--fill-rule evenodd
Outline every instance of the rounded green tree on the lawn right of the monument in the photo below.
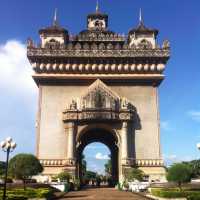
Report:
M 180 190 L 182 190 L 182 184 L 190 182 L 191 178 L 192 170 L 188 164 L 176 163 L 168 169 L 167 180 L 177 183 Z

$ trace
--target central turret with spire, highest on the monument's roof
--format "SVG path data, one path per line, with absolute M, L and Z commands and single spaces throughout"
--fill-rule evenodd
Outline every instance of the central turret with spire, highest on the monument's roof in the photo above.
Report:
M 108 15 L 100 12 L 98 1 L 96 12 L 87 17 L 87 27 L 88 30 L 105 30 L 108 27 Z

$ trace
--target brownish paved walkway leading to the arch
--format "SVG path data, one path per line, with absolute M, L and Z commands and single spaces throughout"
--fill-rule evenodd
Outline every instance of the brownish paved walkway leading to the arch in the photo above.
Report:
M 147 200 L 130 192 L 118 191 L 114 188 L 88 188 L 66 194 L 62 200 Z

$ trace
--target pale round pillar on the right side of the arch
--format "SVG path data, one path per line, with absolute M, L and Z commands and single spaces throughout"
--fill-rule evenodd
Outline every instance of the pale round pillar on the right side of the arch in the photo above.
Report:
M 127 161 L 129 158 L 129 146 L 128 146 L 128 123 L 123 122 L 122 130 L 121 130 L 121 158 L 122 158 L 122 165 L 127 165 Z

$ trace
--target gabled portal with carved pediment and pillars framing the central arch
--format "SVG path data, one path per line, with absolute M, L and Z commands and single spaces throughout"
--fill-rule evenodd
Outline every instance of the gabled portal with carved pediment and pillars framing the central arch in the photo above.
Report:
M 122 180 L 123 169 L 134 164 L 129 131 L 135 114 L 135 107 L 127 99 L 119 97 L 101 80 L 95 81 L 63 112 L 68 140 L 65 169 L 79 176 L 79 157 L 85 146 L 102 142 L 113 155 L 113 166 L 116 166 L 113 178 Z

